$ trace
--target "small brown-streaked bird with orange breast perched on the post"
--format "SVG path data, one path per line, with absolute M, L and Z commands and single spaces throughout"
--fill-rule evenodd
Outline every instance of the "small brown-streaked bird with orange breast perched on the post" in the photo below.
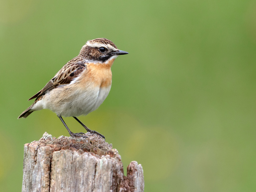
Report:
M 35 99 L 19 118 L 26 118 L 41 109 L 56 113 L 73 138 L 87 138 L 85 133 L 73 133 L 62 117 L 74 117 L 87 132 L 105 136 L 86 127 L 77 117 L 98 109 L 109 94 L 112 84 L 111 66 L 114 60 L 128 52 L 106 38 L 88 40 L 77 57 L 65 64 L 59 72 L 40 90 L 29 98 Z

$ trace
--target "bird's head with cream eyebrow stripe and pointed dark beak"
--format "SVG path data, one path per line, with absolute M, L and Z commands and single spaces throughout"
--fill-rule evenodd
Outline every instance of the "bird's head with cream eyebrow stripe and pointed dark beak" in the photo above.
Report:
M 109 39 L 97 38 L 87 41 L 80 54 L 88 62 L 107 64 L 116 59 L 118 55 L 128 54 L 128 52 L 117 49 L 116 45 Z

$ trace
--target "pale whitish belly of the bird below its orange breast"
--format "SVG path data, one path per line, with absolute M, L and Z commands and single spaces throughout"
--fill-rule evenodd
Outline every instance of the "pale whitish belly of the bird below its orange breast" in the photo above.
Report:
M 90 86 L 84 90 L 63 86 L 46 94 L 45 97 L 36 103 L 35 110 L 50 109 L 58 116 L 78 117 L 87 115 L 98 109 L 109 94 L 111 85 L 108 87 Z M 41 105 L 41 107 L 40 107 Z

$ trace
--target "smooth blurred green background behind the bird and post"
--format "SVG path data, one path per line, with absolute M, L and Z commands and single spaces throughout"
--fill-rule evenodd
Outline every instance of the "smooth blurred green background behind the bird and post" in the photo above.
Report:
M 0 190 L 22 187 L 23 144 L 68 136 L 27 101 L 104 37 L 130 54 L 112 89 L 80 119 L 106 136 L 145 191 L 256 191 L 256 1 L 0 0 Z M 84 131 L 64 118 L 73 132 Z

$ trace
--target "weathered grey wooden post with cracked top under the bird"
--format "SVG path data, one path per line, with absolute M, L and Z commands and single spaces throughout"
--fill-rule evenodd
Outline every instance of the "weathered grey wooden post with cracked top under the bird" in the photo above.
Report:
M 24 146 L 22 192 L 143 192 L 142 166 L 132 161 L 124 176 L 121 156 L 112 144 L 88 138 L 44 133 Z

